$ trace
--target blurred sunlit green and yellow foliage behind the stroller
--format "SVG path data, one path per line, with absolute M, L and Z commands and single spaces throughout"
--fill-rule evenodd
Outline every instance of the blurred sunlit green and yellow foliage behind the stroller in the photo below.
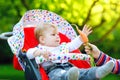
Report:
M 31 9 L 55 12 L 80 29 L 85 24 L 92 26 L 90 42 L 110 56 L 120 58 L 119 0 L 0 0 L 0 33 L 12 31 L 22 15 Z M 1 54 L 8 55 L 1 45 Z

